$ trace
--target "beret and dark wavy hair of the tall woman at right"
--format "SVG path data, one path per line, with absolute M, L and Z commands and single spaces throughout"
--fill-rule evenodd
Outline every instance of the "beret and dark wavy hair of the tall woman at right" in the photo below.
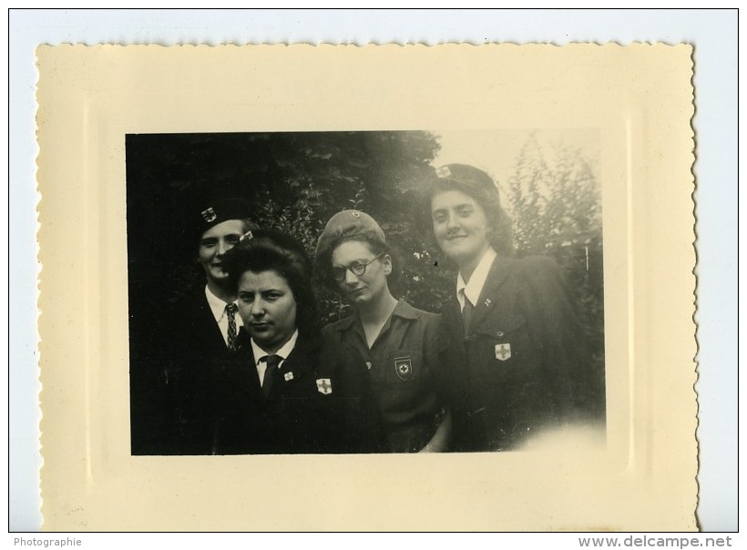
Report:
M 506 210 L 501 207 L 498 188 L 483 170 L 466 164 L 449 164 L 438 168 L 427 182 L 424 205 L 424 221 L 433 234 L 433 199 L 446 191 L 461 191 L 475 199 L 485 212 L 492 229 L 490 244 L 498 254 L 510 256 L 514 253 L 514 228 Z

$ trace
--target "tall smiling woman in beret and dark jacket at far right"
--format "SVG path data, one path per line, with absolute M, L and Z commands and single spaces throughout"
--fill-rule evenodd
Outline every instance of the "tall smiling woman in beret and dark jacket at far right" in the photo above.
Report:
M 442 312 L 453 450 L 516 449 L 588 420 L 599 388 L 558 267 L 511 257 L 510 220 L 485 172 L 452 164 L 435 174 L 427 217 L 459 270 Z

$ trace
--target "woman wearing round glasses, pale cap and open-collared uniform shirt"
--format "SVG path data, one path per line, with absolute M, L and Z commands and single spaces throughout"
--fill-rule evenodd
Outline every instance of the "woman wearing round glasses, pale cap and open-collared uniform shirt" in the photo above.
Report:
M 348 432 L 350 450 L 380 453 L 444 451 L 449 421 L 436 391 L 438 316 L 396 300 L 397 275 L 384 231 L 358 210 L 327 222 L 316 248 L 322 277 L 353 306 L 353 315 L 322 330 L 322 347 L 342 362 L 349 394 L 363 395 Z M 373 411 L 375 419 L 364 412 Z

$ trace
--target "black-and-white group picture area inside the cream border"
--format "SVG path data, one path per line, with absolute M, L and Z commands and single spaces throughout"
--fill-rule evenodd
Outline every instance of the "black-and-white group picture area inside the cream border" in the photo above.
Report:
M 605 439 L 599 130 L 128 134 L 131 453 Z

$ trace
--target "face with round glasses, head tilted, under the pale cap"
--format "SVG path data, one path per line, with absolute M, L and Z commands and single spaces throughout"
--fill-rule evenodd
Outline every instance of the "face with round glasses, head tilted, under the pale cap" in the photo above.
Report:
M 347 269 L 360 262 L 368 264 L 362 275 L 355 275 Z M 367 243 L 360 240 L 346 240 L 335 247 L 332 253 L 332 267 L 342 268 L 345 278 L 336 281 L 337 287 L 358 307 L 380 300 L 388 289 L 386 276 L 392 272 L 392 259 L 387 254 L 376 258 Z

